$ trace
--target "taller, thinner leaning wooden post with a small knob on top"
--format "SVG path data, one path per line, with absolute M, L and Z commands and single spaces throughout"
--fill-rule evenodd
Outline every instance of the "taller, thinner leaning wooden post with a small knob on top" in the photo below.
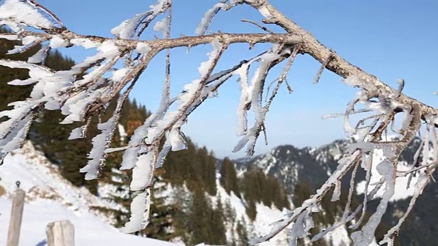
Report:
M 21 220 L 23 219 L 23 207 L 26 193 L 22 189 L 16 189 L 12 200 L 11 219 L 8 231 L 8 246 L 18 246 L 20 239 Z

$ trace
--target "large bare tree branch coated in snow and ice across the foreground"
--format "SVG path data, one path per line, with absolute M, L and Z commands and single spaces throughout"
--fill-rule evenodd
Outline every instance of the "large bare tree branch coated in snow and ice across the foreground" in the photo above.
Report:
M 263 16 L 264 24 L 278 25 L 285 33 L 269 31 L 270 33 L 206 34 L 218 12 L 237 8 L 239 5 L 249 5 L 254 8 Z M 312 240 L 318 240 L 326 233 L 340 226 L 348 226 L 350 223 L 349 227 L 357 230 L 352 234 L 355 245 L 368 245 L 394 194 L 397 178 L 409 176 L 411 180 L 413 174 L 420 174 L 420 178 L 417 178 L 414 184 L 415 193 L 405 215 L 387 232 L 381 242 L 391 245 L 391 240 L 409 215 L 417 197 L 432 179 L 437 167 L 438 110 L 403 94 L 404 80 L 400 79 L 398 81 L 400 86 L 394 89 L 372 74 L 350 64 L 335 51 L 318 42 L 311 33 L 276 10 L 268 0 L 219 1 L 200 16 L 201 22 L 195 30 L 196 36 L 180 38 L 170 38 L 172 11 L 174 10 L 171 0 L 157 0 L 149 10 L 136 14 L 114 27 L 111 31 L 115 38 L 103 38 L 70 31 L 55 14 L 35 0 L 2 1 L 0 25 L 8 25 L 12 33 L 1 33 L 0 38 L 16 40 L 19 43 L 8 53 L 22 53 L 35 46 L 41 48 L 27 61 L 0 59 L 1 66 L 29 70 L 29 79 L 10 81 L 11 85 L 34 85 L 29 98 L 12 102 L 10 106 L 13 109 L 0 112 L 0 118 L 3 116 L 7 118 L 0 123 L 0 163 L 9 152 L 21 147 L 32 122 L 38 118 L 38 113 L 42 109 L 61 110 L 65 115 L 62 124 L 84 122 L 83 126 L 75 128 L 70 134 L 69 139 L 75 139 L 85 136 L 90 117 L 94 113 L 101 111 L 113 98 L 119 96 L 116 110 L 110 120 L 98 125 L 101 133 L 92 139 L 93 148 L 88 156 L 90 160 L 81 172 L 86 172 L 86 179 L 99 178 L 107 153 L 124 151 L 120 169 L 133 169 L 130 188 L 135 197 L 131 202 L 129 222 L 121 230 L 127 233 L 136 232 L 149 222 L 151 187 L 155 169 L 163 165 L 168 152 L 185 149 L 185 135 L 181 127 L 187 122 L 190 114 L 205 100 L 213 97 L 222 84 L 232 77 L 237 77 L 240 83 L 240 101 L 236 110 L 237 135 L 242 138 L 234 151 L 246 147 L 246 153 L 252 155 L 260 133 L 265 133 L 266 137 L 266 115 L 283 82 L 287 84 L 287 73 L 294 58 L 298 54 L 307 54 L 321 64 L 315 81 L 318 81 L 323 70 L 327 69 L 342 77 L 347 85 L 359 88 L 359 92 L 353 96 L 344 112 L 330 115 L 330 117 L 344 118 L 344 130 L 355 138 L 356 143 L 350 145 L 348 153 L 339 160 L 335 172 L 320 189 L 315 191 L 314 195 L 294 208 L 291 213 L 287 213 L 284 219 L 272 223 L 268 234 L 254 238 L 251 243 L 268 241 L 282 230 L 291 228 L 292 245 L 296 244 L 298 238 L 307 236 L 309 230 L 313 228 L 313 215 L 324 210 L 320 204 L 322 198 L 333 189 L 331 200 L 338 200 L 341 193 L 341 180 L 351 174 L 348 200 L 342 217 L 326 230 L 313 235 Z M 167 16 L 164 16 L 166 13 Z M 151 27 L 151 23 L 159 16 L 163 16 L 162 20 Z M 255 23 L 250 20 L 246 22 Z M 261 25 L 257 24 L 257 26 L 261 27 L 262 31 L 269 30 Z M 149 29 L 161 31 L 163 38 L 140 40 L 142 33 Z M 229 46 L 236 43 L 247 43 L 250 49 L 259 43 L 269 43 L 271 48 L 254 55 L 251 59 L 236 61 L 236 65 L 229 69 L 216 71 L 222 55 L 227 52 Z M 186 84 L 181 93 L 171 97 L 170 49 L 201 44 L 211 44 L 212 49 L 207 54 L 207 60 L 198 67 L 198 79 Z M 78 61 L 70 70 L 55 72 L 44 67 L 45 55 L 50 49 L 70 46 L 95 49 L 96 52 Z M 109 148 L 123 102 L 133 86 L 138 83 L 142 72 L 148 69 L 149 62 L 164 50 L 167 51 L 166 64 L 164 64 L 166 74 L 159 108 L 142 126 L 136 128 L 127 146 Z M 272 68 L 286 60 L 281 74 L 272 83 L 266 85 L 268 75 L 273 73 Z M 123 61 L 121 68 L 116 66 L 120 64 L 119 61 Z M 255 68 L 254 74 L 249 74 L 250 68 Z M 270 86 L 274 83 L 276 85 L 269 93 Z M 287 89 L 292 92 L 288 84 Z M 264 105 L 263 97 L 266 98 Z M 253 126 L 248 126 L 250 110 L 255 117 Z M 351 115 L 362 113 L 368 114 L 357 122 L 352 122 Z M 402 115 L 401 124 L 394 123 L 396 115 Z M 415 153 L 413 167 L 409 171 L 400 172 L 399 156 L 415 135 L 420 133 L 422 122 L 427 123 L 426 133 L 422 134 L 422 146 Z M 400 127 L 396 128 L 396 125 Z M 397 133 L 398 139 L 388 140 L 385 136 L 387 131 Z M 164 146 L 160 147 L 159 143 L 162 140 Z M 431 146 L 430 141 L 433 143 Z M 384 153 L 383 161 L 374 161 L 372 156 L 376 151 Z M 420 155 L 429 156 L 430 153 L 434 153 L 432 160 L 424 158 L 420 161 Z M 381 181 L 377 183 L 371 182 L 372 167 L 376 167 L 382 176 Z M 365 195 L 359 206 L 351 208 L 352 197 L 355 195 L 354 187 L 358 181 L 355 174 L 359 168 L 365 171 Z M 368 212 L 367 204 L 378 197 L 378 191 L 381 189 L 383 189 L 383 194 L 380 194 L 381 204 L 370 219 L 365 221 L 365 213 Z

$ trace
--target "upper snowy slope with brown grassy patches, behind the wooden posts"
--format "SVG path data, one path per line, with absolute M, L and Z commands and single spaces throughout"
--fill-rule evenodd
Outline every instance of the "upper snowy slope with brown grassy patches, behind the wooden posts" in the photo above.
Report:
M 78 171 L 79 172 L 79 171 Z M 6 156 L 0 165 L 0 186 L 5 188 L 6 196 L 11 197 L 16 189 L 16 181 L 26 191 L 26 201 L 55 200 L 75 211 L 77 215 L 90 213 L 90 206 L 117 208 L 117 204 L 92 195 L 85 188 L 75 187 L 64 179 L 56 165 L 50 163 L 41 152 L 27 141 L 21 150 Z M 110 222 L 110 218 L 94 211 L 101 219 Z

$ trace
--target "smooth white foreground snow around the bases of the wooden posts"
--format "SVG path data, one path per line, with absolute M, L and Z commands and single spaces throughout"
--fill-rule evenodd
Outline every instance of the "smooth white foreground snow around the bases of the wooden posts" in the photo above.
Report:
M 12 202 L 0 198 L 0 245 L 6 245 L 10 209 Z M 23 224 L 20 234 L 22 246 L 45 246 L 47 223 L 62 219 L 70 220 L 75 226 L 75 245 L 81 246 L 119 246 L 119 245 L 154 245 L 171 246 L 174 243 L 158 241 L 118 232 L 118 230 L 101 221 L 90 213 L 77 215 L 72 210 L 55 201 L 38 200 L 26 203 L 23 212 Z

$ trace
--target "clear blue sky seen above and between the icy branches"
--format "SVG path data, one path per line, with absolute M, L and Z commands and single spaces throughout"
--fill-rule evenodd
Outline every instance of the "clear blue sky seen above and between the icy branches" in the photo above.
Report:
M 110 30 L 138 12 L 148 10 L 154 1 L 146 0 L 40 0 L 73 31 L 110 37 Z M 174 3 L 172 36 L 194 35 L 203 13 L 217 0 L 186 0 Z M 406 81 L 404 93 L 429 105 L 438 105 L 438 1 L 288 1 L 271 3 L 298 25 L 307 29 L 323 44 L 334 49 L 353 64 L 375 74 L 385 83 L 397 87 L 397 79 Z M 220 12 L 211 25 L 211 31 L 261 32 L 257 27 L 241 23 L 248 18 L 260 22 L 261 15 L 244 6 L 229 12 Z M 159 18 L 161 19 L 161 18 Z M 277 29 L 275 29 L 277 30 Z M 152 29 L 144 38 L 153 38 Z M 251 57 L 261 51 L 248 51 L 247 45 L 231 47 L 219 68 L 229 68 L 239 59 Z M 190 53 L 178 49 L 172 53 L 172 92 L 180 92 L 185 83 L 196 79 L 197 66 L 206 59 L 209 46 L 194 48 Z M 91 51 L 73 49 L 66 52 L 73 59 L 82 59 Z M 154 110 L 159 101 L 164 79 L 163 56 L 153 60 L 140 79 L 132 97 Z M 342 120 L 322 120 L 322 115 L 342 112 L 353 98 L 355 90 L 340 78 L 324 71 L 317 85 L 313 77 L 319 64 L 309 56 L 296 59 L 289 72 L 289 83 L 294 92 L 288 94 L 285 86 L 274 100 L 268 113 L 268 146 L 259 139 L 256 154 L 280 144 L 298 147 L 320 146 L 345 137 Z M 274 79 L 274 77 L 272 77 Z M 240 90 L 235 79 L 228 81 L 219 91 L 218 98 L 209 99 L 189 118 L 183 131 L 198 145 L 214 150 L 216 156 L 244 156 L 231 150 L 236 137 L 236 108 Z

